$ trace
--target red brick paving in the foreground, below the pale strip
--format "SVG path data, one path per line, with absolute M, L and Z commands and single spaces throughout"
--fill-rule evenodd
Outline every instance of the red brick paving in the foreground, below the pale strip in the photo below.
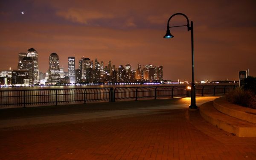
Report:
M 0 131 L 1 160 L 256 159 L 256 138 L 212 126 L 199 111 Z

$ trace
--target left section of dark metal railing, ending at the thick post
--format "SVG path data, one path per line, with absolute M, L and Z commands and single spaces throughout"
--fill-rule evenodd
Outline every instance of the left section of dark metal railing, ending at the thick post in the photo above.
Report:
M 40 90 L 0 90 L 1 106 L 40 106 L 67 103 L 110 102 L 112 87 L 40 89 Z

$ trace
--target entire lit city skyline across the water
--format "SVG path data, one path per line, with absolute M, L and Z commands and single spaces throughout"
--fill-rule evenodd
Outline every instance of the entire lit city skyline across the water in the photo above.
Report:
M 38 68 L 39 59 L 34 48 L 19 52 L 17 70 L 0 70 L 0 85 L 163 82 L 163 66 L 148 64 L 142 69 L 138 64 L 137 69 L 132 70 L 131 64 L 116 67 L 110 60 L 107 66 L 97 58 L 93 63 L 93 59 L 81 57 L 76 68 L 76 58 L 68 57 L 68 72 L 65 72 L 64 67 L 60 67 L 58 54 L 53 52 L 49 55 L 49 68 L 43 73 Z

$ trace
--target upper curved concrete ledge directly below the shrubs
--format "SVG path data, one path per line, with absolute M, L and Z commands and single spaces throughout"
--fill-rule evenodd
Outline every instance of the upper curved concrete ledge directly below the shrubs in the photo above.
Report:
M 224 97 L 217 98 L 213 101 L 213 106 L 216 110 L 227 114 L 229 116 L 236 117 L 248 122 L 256 123 L 256 110 L 239 105 L 234 105 Z

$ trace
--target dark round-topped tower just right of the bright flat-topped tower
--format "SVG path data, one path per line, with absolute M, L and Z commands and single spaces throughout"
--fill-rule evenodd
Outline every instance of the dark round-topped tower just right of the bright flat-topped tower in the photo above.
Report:
M 83 60 L 82 81 L 93 82 L 93 69 L 91 68 L 90 58 L 84 58 Z

